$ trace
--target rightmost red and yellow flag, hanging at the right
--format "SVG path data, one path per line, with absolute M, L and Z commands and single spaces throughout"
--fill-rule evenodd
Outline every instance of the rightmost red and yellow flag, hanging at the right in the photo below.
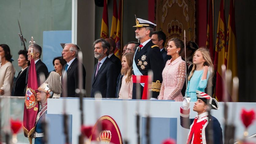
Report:
M 230 9 L 227 25 L 227 45 L 225 58 L 227 59 L 227 69 L 232 71 L 232 78 L 237 76 L 237 48 L 235 32 L 235 4 L 234 0 L 230 1 Z

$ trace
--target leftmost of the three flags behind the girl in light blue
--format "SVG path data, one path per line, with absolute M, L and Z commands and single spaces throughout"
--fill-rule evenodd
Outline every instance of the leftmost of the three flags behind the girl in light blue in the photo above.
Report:
M 213 0 L 210 0 L 209 11 L 208 11 L 208 22 L 207 22 L 207 37 L 206 37 L 206 48 L 209 49 L 212 61 L 214 61 L 214 45 L 213 45 Z

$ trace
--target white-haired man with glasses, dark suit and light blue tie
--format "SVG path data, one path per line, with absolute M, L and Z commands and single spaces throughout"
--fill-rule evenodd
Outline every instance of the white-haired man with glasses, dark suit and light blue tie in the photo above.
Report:
M 77 45 L 69 43 L 65 44 L 63 47 L 62 55 L 67 63 L 63 66 L 64 70 L 62 75 L 67 75 L 67 97 L 79 97 L 79 95 L 75 93 L 75 90 L 78 89 L 78 79 L 83 80 L 82 88 L 85 89 L 86 71 L 82 64 L 82 78 L 78 77 L 78 59 L 76 58 L 78 55 Z M 63 96 L 63 93 L 61 96 Z

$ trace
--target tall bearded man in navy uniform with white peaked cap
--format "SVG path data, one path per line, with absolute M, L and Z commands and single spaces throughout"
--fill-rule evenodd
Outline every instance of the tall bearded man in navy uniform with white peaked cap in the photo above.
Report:
M 133 89 L 132 99 L 136 99 L 136 78 L 140 77 L 140 98 L 147 99 L 147 87 L 151 88 L 152 98 L 157 99 L 162 85 L 162 70 L 164 68 L 163 57 L 159 47 L 153 44 L 150 37 L 152 36 L 153 28 L 156 26 L 150 21 L 136 19 L 136 39 L 140 40 L 140 45 L 135 51 L 133 61 Z M 152 70 L 152 83 L 147 85 L 148 71 Z M 143 91 L 144 90 L 144 91 Z

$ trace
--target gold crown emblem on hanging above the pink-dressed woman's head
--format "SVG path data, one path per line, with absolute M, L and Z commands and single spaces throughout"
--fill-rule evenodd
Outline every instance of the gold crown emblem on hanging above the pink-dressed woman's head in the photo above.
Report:
M 167 31 L 170 34 L 170 38 L 177 37 L 181 38 L 183 25 L 178 20 L 172 20 L 167 25 Z

